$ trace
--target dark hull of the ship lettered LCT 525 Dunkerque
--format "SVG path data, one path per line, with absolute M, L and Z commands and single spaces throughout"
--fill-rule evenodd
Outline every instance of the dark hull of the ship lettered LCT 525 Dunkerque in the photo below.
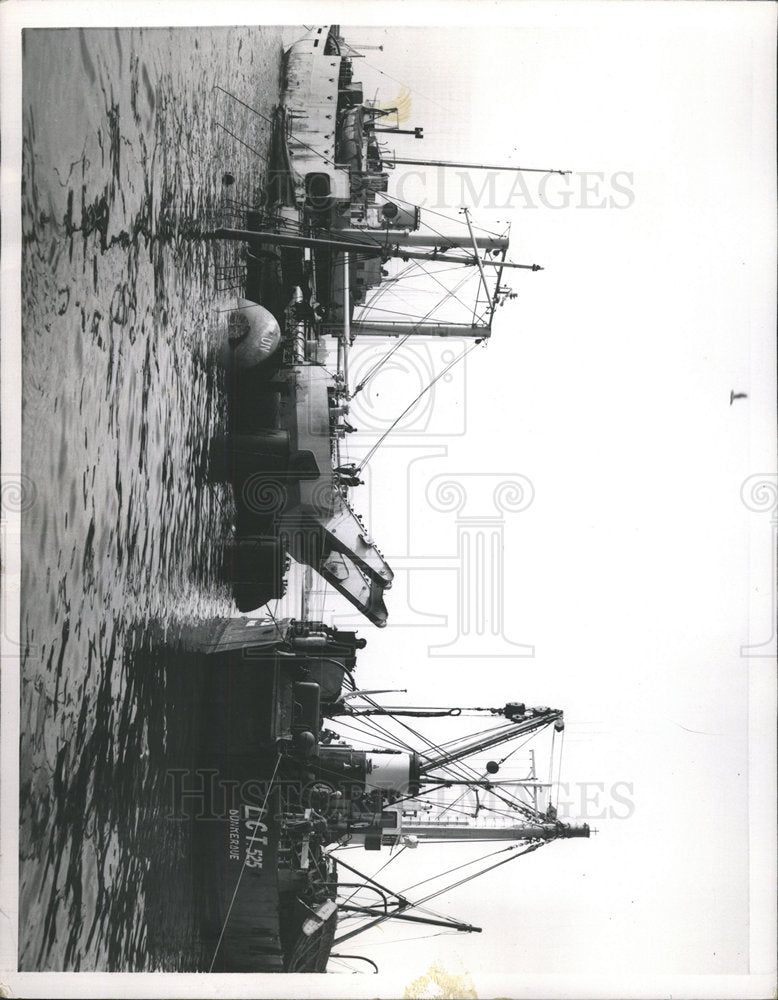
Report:
M 336 666 L 316 673 L 290 654 L 287 627 L 231 619 L 193 635 L 205 660 L 202 723 L 191 769 L 172 780 L 176 818 L 192 829 L 204 971 L 323 972 L 329 956 L 336 919 L 303 933 L 336 878 L 305 840 L 315 755 L 297 747 L 301 733 L 318 738 L 319 692 L 338 696 L 337 657 L 347 669 L 355 640 L 330 643 Z

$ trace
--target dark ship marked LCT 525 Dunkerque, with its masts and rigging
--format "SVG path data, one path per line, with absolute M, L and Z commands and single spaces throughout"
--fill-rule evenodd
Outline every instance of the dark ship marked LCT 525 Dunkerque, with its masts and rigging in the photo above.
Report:
M 364 645 L 323 622 L 200 627 L 204 723 L 174 801 L 177 818 L 193 820 L 205 879 L 205 971 L 322 973 L 346 942 L 390 921 L 478 933 L 430 904 L 554 841 L 589 836 L 553 804 L 561 710 L 385 705 L 357 681 Z M 485 853 L 435 871 L 453 844 Z M 416 892 L 391 888 L 386 865 L 380 881 L 362 870 L 361 854 L 391 861 L 414 849 L 425 871 Z

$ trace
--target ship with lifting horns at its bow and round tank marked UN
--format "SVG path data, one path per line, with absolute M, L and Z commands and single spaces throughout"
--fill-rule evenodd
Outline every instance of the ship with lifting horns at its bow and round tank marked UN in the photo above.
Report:
M 383 627 L 393 573 L 352 503 L 362 467 L 341 454 L 356 430 L 350 405 L 364 388 L 351 384 L 350 349 L 358 337 L 480 343 L 514 297 L 502 283 L 506 269 L 540 268 L 509 261 L 508 235 L 477 234 L 467 210 L 458 236 L 441 235 L 422 227 L 418 206 L 390 194 L 398 164 L 422 161 L 388 148 L 407 130 L 393 123 L 396 108 L 364 100 L 357 55 L 338 26 L 311 28 L 291 46 L 266 202 L 208 234 L 240 246 L 246 268 L 223 351 L 229 427 L 211 444 L 209 468 L 233 487 L 225 575 L 239 610 L 282 597 L 294 560 Z M 423 138 L 423 129 L 412 132 Z M 376 319 L 371 303 L 397 259 L 477 274 L 470 321 L 447 322 L 434 310 Z

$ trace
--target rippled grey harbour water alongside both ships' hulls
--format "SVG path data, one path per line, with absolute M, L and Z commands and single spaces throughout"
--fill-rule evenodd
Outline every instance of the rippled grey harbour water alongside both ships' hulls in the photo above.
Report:
M 230 498 L 202 468 L 235 293 L 196 237 L 256 202 L 269 145 L 214 85 L 269 114 L 281 51 L 274 28 L 25 33 L 22 968 L 198 961 L 165 780 L 196 674 L 159 637 L 232 611 Z

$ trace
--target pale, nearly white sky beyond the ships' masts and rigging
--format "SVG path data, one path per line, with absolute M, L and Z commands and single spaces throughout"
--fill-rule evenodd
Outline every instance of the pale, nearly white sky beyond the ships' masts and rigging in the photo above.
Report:
M 336 9 L 347 38 L 384 47 L 355 61 L 366 95 L 410 93 L 404 127 L 425 138 L 398 137 L 398 153 L 572 172 L 548 204 L 536 178 L 507 173 L 495 207 L 470 199 L 476 224 L 511 224 L 511 259 L 545 270 L 511 276 L 489 343 L 370 462 L 358 502 L 396 579 L 389 627 L 360 624 L 359 677 L 417 703 L 563 708 L 569 818 L 599 832 L 441 904 L 483 934 L 376 931 L 354 950 L 379 980 L 304 993 L 401 995 L 438 961 L 482 997 L 752 994 L 749 975 L 774 968 L 775 660 L 742 647 L 774 618 L 774 526 L 743 496 L 775 472 L 775 8 Z M 310 8 L 284 14 L 312 23 Z M 412 22 L 426 27 L 398 27 Z M 392 184 L 457 217 L 456 178 L 415 180 Z M 361 429 L 386 427 L 461 349 L 398 356 L 355 404 Z M 458 514 L 439 509 L 451 480 Z M 506 480 L 524 509 L 493 506 Z M 478 530 L 501 538 L 501 562 L 486 633 L 463 643 L 459 545 Z M 322 608 L 355 623 L 332 595 Z

